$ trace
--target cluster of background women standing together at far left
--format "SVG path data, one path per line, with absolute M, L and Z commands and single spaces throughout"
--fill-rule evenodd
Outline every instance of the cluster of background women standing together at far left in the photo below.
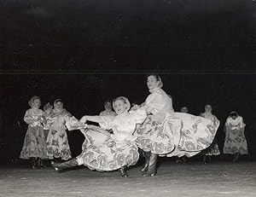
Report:
M 63 108 L 63 101 L 55 100 L 54 107 L 46 104 L 44 111 L 38 96 L 33 96 L 28 104 L 31 108 L 24 117 L 28 128 L 20 159 L 30 159 L 33 169 L 44 167 L 43 159 L 70 159 L 65 117 L 72 115 Z

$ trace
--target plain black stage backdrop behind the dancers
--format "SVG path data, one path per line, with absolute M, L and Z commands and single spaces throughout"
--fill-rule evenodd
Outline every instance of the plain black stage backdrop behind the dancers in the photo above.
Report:
M 178 111 L 211 103 L 223 124 L 236 110 L 256 159 L 256 4 L 245 0 L 0 0 L 2 160 L 18 159 L 31 96 L 62 98 L 77 118 L 103 101 L 148 95 L 159 72 Z M 83 136 L 69 133 L 73 155 Z

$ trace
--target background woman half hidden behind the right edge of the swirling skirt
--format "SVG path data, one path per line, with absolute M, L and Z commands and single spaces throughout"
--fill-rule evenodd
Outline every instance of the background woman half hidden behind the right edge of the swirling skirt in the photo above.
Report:
M 212 114 L 212 106 L 207 104 L 205 105 L 205 112 L 200 114 L 201 117 L 206 119 L 211 119 L 214 125 L 219 125 L 219 120 L 215 115 Z M 216 139 L 216 138 L 215 138 Z M 212 155 L 219 155 L 218 142 L 213 140 L 210 147 L 202 151 L 204 164 L 211 163 Z

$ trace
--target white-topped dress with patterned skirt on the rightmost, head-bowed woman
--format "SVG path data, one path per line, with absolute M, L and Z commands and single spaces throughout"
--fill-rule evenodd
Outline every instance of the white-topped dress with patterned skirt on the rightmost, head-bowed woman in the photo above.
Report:
M 235 120 L 230 117 L 226 120 L 224 154 L 248 154 L 245 126 L 241 116 Z

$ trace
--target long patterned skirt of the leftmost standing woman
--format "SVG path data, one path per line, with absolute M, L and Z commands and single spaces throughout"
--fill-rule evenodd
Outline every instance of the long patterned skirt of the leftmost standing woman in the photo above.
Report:
M 44 129 L 40 126 L 28 126 L 20 152 L 20 159 L 29 159 L 32 157 L 47 159 Z

